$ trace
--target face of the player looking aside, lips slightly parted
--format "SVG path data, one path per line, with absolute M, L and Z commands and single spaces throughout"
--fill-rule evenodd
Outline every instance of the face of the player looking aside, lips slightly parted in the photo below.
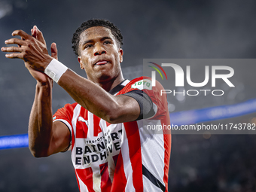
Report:
M 120 62 L 123 50 L 117 45 L 111 30 L 93 26 L 80 35 L 78 62 L 87 73 L 87 78 L 99 83 L 121 75 Z

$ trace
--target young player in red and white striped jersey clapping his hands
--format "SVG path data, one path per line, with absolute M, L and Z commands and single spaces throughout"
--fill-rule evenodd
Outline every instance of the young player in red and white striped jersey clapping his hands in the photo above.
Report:
M 87 78 L 67 69 L 57 59 L 56 44 L 47 53 L 42 33 L 21 30 L 2 47 L 8 58 L 23 59 L 37 80 L 29 117 L 29 149 L 46 157 L 72 149 L 72 163 L 81 191 L 167 191 L 170 134 L 155 134 L 147 125 L 169 124 L 166 96 L 149 78 L 125 80 L 120 30 L 108 20 L 88 20 L 72 43 Z M 75 103 L 53 114 L 53 81 Z M 143 86 L 148 84 L 150 86 Z

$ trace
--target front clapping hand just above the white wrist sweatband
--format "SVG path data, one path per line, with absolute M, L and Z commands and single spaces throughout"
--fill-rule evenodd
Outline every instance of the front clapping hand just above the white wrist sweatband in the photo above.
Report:
M 47 47 L 41 32 L 38 29 L 34 29 L 33 33 L 33 35 L 35 35 L 38 39 L 34 38 L 32 35 L 28 35 L 22 30 L 14 31 L 12 35 L 20 35 L 22 39 L 11 38 L 5 41 L 5 44 L 17 44 L 18 47 L 2 47 L 2 51 L 13 52 L 8 53 L 5 56 L 11 59 L 23 59 L 24 62 L 32 67 L 32 69 L 39 72 L 44 72 L 44 69 L 47 67 L 53 57 L 48 55 Z

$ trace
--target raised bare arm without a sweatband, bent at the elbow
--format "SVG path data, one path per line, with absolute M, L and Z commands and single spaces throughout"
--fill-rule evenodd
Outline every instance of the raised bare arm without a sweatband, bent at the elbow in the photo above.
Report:
M 29 117 L 29 149 L 35 157 L 47 157 L 69 147 L 69 129 L 52 120 L 53 82 L 36 85 L 35 100 Z

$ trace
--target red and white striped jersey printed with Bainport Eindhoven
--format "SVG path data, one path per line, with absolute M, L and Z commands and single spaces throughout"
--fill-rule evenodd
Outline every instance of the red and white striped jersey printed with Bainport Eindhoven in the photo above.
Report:
M 149 78 L 125 80 L 109 93 L 143 90 L 154 105 L 154 117 L 110 124 L 82 108 L 67 104 L 53 114 L 72 134 L 72 163 L 80 191 L 167 191 L 171 135 L 155 126 L 167 126 L 169 111 L 163 87 Z M 150 128 L 150 129 L 149 129 Z

